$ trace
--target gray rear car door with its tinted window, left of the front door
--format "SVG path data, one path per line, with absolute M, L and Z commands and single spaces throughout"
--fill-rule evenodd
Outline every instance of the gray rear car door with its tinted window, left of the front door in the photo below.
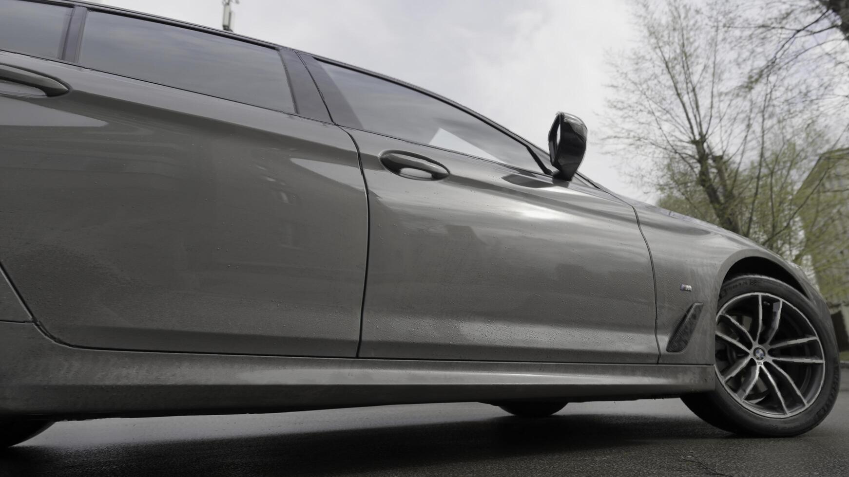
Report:
M 3 8 L 0 259 L 43 330 L 356 354 L 363 177 L 295 53 L 108 8 Z

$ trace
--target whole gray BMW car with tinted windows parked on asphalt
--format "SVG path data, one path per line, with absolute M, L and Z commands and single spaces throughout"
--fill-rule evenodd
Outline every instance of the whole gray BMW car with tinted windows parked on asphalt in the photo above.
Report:
M 682 397 L 797 435 L 839 389 L 796 266 L 383 75 L 0 0 L 0 444 L 62 419 Z M 546 131 L 540 131 L 540 135 Z

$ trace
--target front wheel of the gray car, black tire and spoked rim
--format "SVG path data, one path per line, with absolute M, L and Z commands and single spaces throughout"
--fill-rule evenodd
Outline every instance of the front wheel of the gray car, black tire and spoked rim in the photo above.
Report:
M 751 317 L 745 315 L 746 309 Z M 735 314 L 735 310 L 744 313 Z M 755 326 L 758 311 L 762 313 L 760 328 Z M 683 396 L 690 410 L 719 429 L 763 437 L 800 435 L 825 419 L 835 405 L 841 379 L 829 316 L 821 315 L 782 281 L 738 275 L 722 285 L 716 319 L 716 386 L 713 391 Z M 751 348 L 751 358 L 740 343 Z

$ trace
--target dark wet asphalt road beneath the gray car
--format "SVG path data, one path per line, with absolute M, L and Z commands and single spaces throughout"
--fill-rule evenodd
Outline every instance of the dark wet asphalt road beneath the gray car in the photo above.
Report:
M 729 435 L 678 399 L 530 420 L 474 403 L 103 419 L 0 452 L 0 475 L 849 475 L 847 371 L 829 418 L 789 439 Z

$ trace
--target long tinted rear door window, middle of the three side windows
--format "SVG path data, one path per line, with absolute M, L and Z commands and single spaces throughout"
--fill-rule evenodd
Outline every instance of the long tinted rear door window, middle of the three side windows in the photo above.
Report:
M 240 103 L 295 110 L 277 50 L 224 36 L 89 12 L 80 63 Z

